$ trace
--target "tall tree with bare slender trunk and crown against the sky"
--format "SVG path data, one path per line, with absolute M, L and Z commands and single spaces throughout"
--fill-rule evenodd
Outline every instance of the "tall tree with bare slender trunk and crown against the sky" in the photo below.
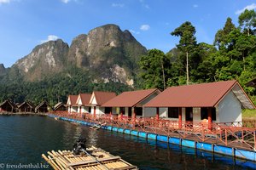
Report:
M 192 26 L 189 21 L 186 21 L 181 26 L 172 31 L 171 35 L 180 37 L 177 48 L 186 54 L 186 82 L 189 84 L 189 53 L 192 53 L 193 48 L 196 46 L 195 27 Z

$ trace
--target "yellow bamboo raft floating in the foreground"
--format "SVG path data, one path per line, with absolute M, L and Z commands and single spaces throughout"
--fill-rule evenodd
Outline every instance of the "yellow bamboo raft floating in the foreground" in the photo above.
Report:
M 78 156 L 73 155 L 70 150 L 58 150 L 47 152 L 48 156 L 42 154 L 45 161 L 55 170 L 133 170 L 138 169 L 120 156 L 113 156 L 102 150 L 91 146 Z

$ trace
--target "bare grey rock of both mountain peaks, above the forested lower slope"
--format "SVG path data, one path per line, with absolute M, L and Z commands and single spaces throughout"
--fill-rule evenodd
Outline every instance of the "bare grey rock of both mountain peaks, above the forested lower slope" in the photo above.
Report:
M 12 67 L 18 68 L 26 80 L 34 81 L 73 65 L 89 71 L 93 82 L 113 81 L 132 86 L 137 61 L 143 54 L 146 48 L 129 31 L 106 25 L 75 37 L 70 48 L 62 40 L 38 45 Z

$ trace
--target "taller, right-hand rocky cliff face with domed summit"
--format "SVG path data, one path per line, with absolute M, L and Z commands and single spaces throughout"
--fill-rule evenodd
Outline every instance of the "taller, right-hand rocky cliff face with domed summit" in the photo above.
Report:
M 119 26 L 106 25 L 73 39 L 68 61 L 80 68 L 93 71 L 95 81 L 114 81 L 133 84 L 132 72 L 137 69 L 144 48 L 129 31 Z

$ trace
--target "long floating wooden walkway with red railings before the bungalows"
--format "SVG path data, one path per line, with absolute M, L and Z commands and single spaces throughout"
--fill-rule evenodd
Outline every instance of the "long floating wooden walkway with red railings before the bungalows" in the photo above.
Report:
M 169 120 L 155 120 L 153 118 L 120 118 L 111 115 L 93 116 L 91 114 L 79 115 L 78 113 L 55 112 L 55 116 L 72 118 L 79 121 L 96 124 L 106 123 L 106 126 L 136 130 L 138 132 L 154 133 L 167 137 L 189 139 L 196 142 L 218 144 L 235 149 L 256 150 L 256 128 L 242 127 L 240 122 L 212 123 L 212 130 L 202 122 L 182 122 L 178 127 L 177 122 Z

